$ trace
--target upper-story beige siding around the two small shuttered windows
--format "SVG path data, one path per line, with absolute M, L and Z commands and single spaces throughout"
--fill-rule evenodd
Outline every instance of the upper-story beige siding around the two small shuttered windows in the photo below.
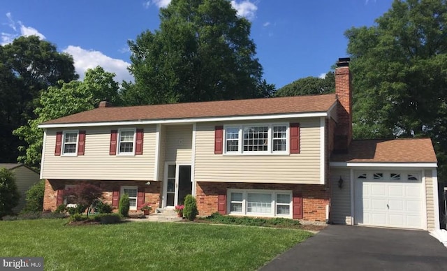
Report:
M 144 129 L 142 155 L 109 154 L 110 131 L 120 128 Z M 56 132 L 62 130 L 47 129 L 45 158 L 41 169 L 43 178 L 71 180 L 152 180 L 154 178 L 155 125 L 87 127 L 79 130 L 86 131 L 85 155 L 55 156 Z

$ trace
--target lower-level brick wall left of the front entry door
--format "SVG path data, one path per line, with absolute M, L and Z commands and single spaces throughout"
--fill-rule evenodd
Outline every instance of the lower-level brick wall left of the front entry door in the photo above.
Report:
M 51 212 L 57 208 L 57 190 L 64 189 L 66 184 L 80 184 L 80 182 L 89 182 L 99 186 L 103 190 L 103 202 L 112 204 L 113 191 L 119 191 L 121 186 L 138 186 L 138 191 L 145 191 L 145 203 L 152 205 L 152 212 L 156 207 L 160 207 L 161 182 L 136 181 L 77 181 L 77 180 L 45 180 L 45 195 L 43 197 L 43 210 Z M 131 212 L 140 212 L 140 210 Z

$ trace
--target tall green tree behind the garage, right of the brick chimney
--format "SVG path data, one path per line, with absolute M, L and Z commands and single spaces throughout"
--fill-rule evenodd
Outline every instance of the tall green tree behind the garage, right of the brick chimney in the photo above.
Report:
M 446 177 L 446 0 L 395 0 L 376 25 L 346 37 L 356 138 L 430 137 Z

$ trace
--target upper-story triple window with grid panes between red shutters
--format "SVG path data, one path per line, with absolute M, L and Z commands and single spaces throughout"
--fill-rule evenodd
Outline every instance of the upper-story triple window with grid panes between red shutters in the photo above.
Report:
M 288 154 L 288 124 L 224 128 L 226 154 Z

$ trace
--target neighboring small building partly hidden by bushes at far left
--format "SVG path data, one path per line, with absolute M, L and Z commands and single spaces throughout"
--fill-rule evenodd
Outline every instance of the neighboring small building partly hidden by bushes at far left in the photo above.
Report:
M 0 168 L 6 168 L 14 174 L 20 200 L 19 204 L 13 208 L 13 212 L 20 212 L 27 203 L 27 191 L 40 180 L 39 173 L 22 163 L 0 163 Z

